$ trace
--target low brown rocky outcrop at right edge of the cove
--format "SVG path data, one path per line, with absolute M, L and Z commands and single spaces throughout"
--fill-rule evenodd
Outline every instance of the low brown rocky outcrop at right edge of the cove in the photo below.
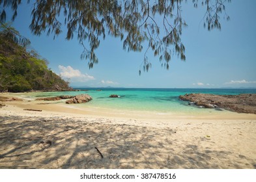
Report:
M 185 94 L 184 96 L 179 96 L 179 98 L 201 107 L 221 108 L 239 113 L 256 114 L 256 94 Z

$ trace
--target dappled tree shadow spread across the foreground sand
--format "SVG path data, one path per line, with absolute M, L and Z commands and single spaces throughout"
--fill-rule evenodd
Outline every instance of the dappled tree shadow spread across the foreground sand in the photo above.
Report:
M 8 116 L 0 117 L 0 131 L 0 168 L 256 166 L 244 155 L 203 148 L 203 137 L 188 144 L 171 128 Z

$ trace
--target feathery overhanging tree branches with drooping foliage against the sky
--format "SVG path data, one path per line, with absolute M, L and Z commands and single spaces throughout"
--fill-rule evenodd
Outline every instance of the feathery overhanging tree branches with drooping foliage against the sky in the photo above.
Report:
M 220 16 L 229 20 L 225 12 L 225 3 L 231 0 L 193 0 L 193 6 L 205 8 L 203 25 L 208 31 L 221 29 Z M 13 11 L 12 20 L 17 16 L 21 0 L 0 0 L 0 22 L 5 22 L 5 9 Z M 180 38 L 186 21 L 182 18 L 183 0 L 37 0 L 31 11 L 29 28 L 33 34 L 43 32 L 57 36 L 67 28 L 66 39 L 77 36 L 83 46 L 81 59 L 89 60 L 89 68 L 98 63 L 95 50 L 100 45 L 100 38 L 106 35 L 121 38 L 123 49 L 142 51 L 143 42 L 147 42 L 143 60 L 143 70 L 151 67 L 147 52 L 151 50 L 158 57 L 162 66 L 169 69 L 172 55 L 186 60 L 185 46 Z M 64 16 L 64 19 L 63 19 Z M 156 21 L 160 17 L 161 21 Z M 61 21 L 63 19 L 63 21 Z M 159 19 L 159 18 L 158 18 Z M 141 73 L 141 70 L 139 70 Z

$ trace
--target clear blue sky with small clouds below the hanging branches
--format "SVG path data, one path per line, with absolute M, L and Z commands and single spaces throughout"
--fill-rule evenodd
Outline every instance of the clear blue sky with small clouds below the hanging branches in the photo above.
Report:
M 149 53 L 152 68 L 139 76 L 141 53 L 126 52 L 119 38 L 107 36 L 96 51 L 99 63 L 89 70 L 76 38 L 65 40 L 61 34 L 34 36 L 29 30 L 31 5 L 23 4 L 12 24 L 31 40 L 32 47 L 49 60 L 53 72 L 70 78 L 71 86 L 115 86 L 131 88 L 256 88 L 256 1 L 231 1 L 226 5 L 230 21 L 221 21 L 221 31 L 207 31 L 201 19 L 205 9 L 184 3 L 182 16 L 188 27 L 183 29 L 186 62 L 174 56 L 169 70 L 161 67 Z M 8 16 L 7 18 L 10 18 Z M 63 31 L 65 32 L 65 30 Z

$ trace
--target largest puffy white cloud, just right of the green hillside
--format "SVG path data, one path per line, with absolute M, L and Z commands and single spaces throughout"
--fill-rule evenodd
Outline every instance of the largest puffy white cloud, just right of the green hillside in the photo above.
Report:
M 71 79 L 74 82 L 86 82 L 94 80 L 94 77 L 88 75 L 87 73 L 83 74 L 79 70 L 74 70 L 71 66 L 62 66 L 59 65 L 59 70 L 61 71 L 61 77 Z

